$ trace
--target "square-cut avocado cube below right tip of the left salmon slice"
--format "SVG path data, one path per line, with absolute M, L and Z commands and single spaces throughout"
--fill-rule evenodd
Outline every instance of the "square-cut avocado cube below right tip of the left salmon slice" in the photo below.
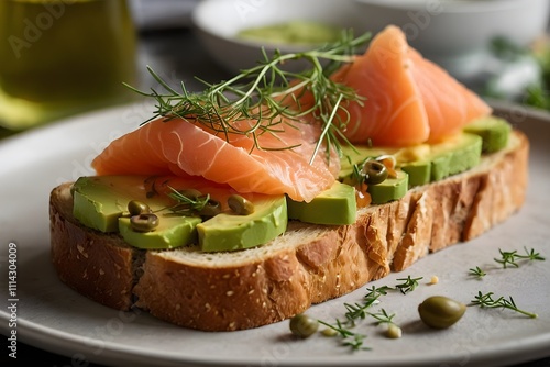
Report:
M 355 188 L 336 181 L 310 202 L 287 199 L 288 219 L 315 224 L 352 224 L 356 218 Z

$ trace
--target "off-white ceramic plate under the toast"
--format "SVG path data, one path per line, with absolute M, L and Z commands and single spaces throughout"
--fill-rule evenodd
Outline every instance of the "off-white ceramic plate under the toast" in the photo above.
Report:
M 397 279 L 424 277 L 406 296 L 394 292 L 372 311 L 395 313 L 404 335 L 383 336 L 384 327 L 362 321 L 355 331 L 369 336 L 370 351 L 351 352 L 339 338 L 316 335 L 297 341 L 288 323 L 250 331 L 205 333 L 180 329 L 144 312 L 123 313 L 99 305 L 65 287 L 50 263 L 48 193 L 57 184 L 90 174 L 90 159 L 110 140 L 138 127 L 147 109 L 131 105 L 78 116 L 0 143 L 0 246 L 2 294 L 0 329 L 16 331 L 20 342 L 75 360 L 134 366 L 491 366 L 550 355 L 550 116 L 522 108 L 506 109 L 514 125 L 531 140 L 530 182 L 522 210 L 482 237 L 429 255 L 402 274 L 374 282 L 395 286 Z M 16 294 L 8 294 L 8 247 L 16 244 Z M 499 269 L 498 249 L 535 248 L 546 262 Z M 469 276 L 480 266 L 483 280 Z M 439 283 L 429 286 L 432 275 Z M 517 305 L 538 313 L 528 319 L 509 310 L 470 307 L 449 330 L 421 324 L 417 304 L 431 294 L 470 302 L 477 291 L 512 296 Z M 360 302 L 366 287 L 309 313 L 332 322 L 344 315 L 344 302 Z M 16 298 L 16 314 L 8 311 Z M 16 327 L 9 319 L 16 316 Z M 4 352 L 7 351 L 4 349 Z

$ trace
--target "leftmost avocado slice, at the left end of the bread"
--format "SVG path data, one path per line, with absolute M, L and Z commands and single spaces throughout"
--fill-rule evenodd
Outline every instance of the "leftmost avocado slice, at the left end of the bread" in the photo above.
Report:
M 90 229 L 117 232 L 118 219 L 131 200 L 147 201 L 152 210 L 169 202 L 168 198 L 147 198 L 146 179 L 146 176 L 80 177 L 73 185 L 73 214 Z

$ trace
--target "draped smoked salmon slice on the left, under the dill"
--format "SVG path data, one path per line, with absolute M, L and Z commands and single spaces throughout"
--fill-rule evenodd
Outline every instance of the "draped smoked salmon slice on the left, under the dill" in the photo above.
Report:
M 293 124 L 260 135 L 263 148 L 254 148 L 248 135 L 218 136 L 190 120 L 157 119 L 113 141 L 91 165 L 98 175 L 202 176 L 242 193 L 310 201 L 332 186 L 340 160 L 320 154 L 310 163 L 316 126 Z

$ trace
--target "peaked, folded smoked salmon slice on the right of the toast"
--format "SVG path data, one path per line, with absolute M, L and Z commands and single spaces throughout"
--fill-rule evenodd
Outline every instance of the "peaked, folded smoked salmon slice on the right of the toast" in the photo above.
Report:
M 355 144 L 407 146 L 452 135 L 491 108 L 447 71 L 407 44 L 389 25 L 363 55 L 332 76 L 365 98 L 351 101 L 344 132 Z

